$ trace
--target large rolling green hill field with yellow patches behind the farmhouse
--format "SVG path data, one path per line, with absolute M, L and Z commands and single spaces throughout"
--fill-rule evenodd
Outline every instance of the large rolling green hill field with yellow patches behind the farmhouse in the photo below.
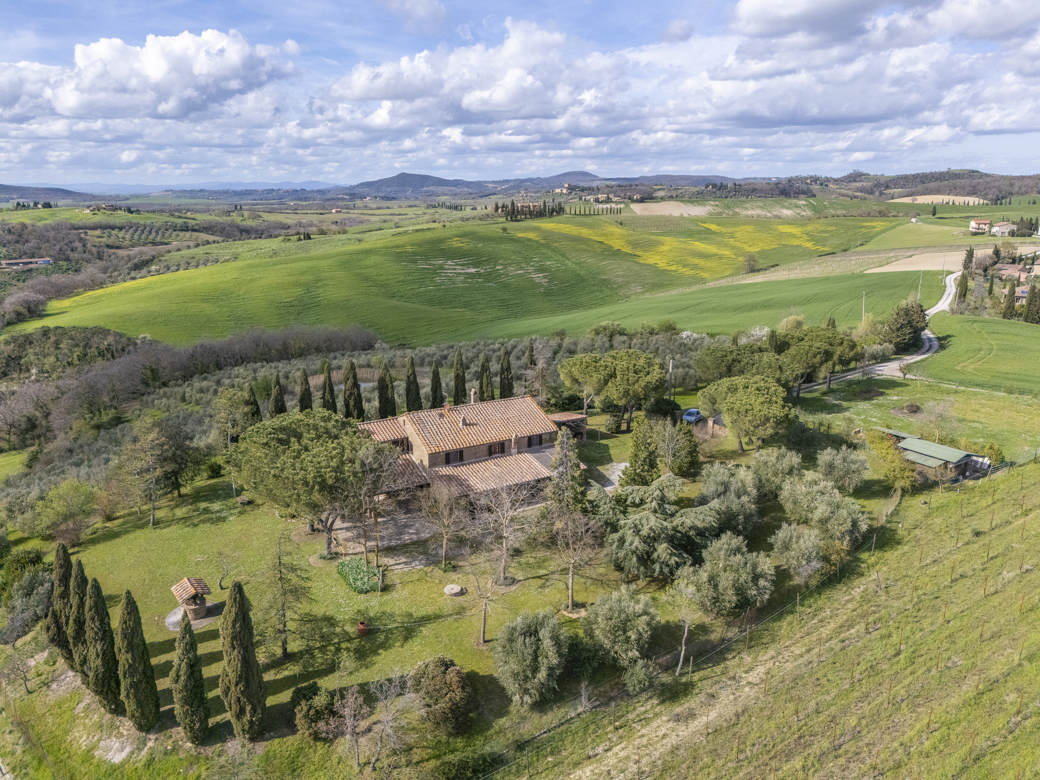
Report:
M 134 336 L 148 333 L 163 341 L 189 343 L 249 328 L 358 322 L 388 341 L 431 343 L 558 328 L 579 332 L 604 319 L 638 326 L 670 317 L 691 330 L 729 332 L 755 322 L 772 323 L 791 308 L 803 310 L 811 321 L 832 313 L 841 326 L 859 320 L 862 277 L 646 297 L 736 270 L 738 241 L 756 240 L 756 233 L 740 232 L 740 225 L 751 227 L 749 220 L 733 222 L 735 227 L 696 234 L 717 236 L 723 248 L 716 248 L 711 257 L 705 250 L 696 263 L 690 258 L 700 250 L 693 244 L 707 245 L 700 239 L 638 233 L 601 217 L 514 223 L 504 233 L 495 225 L 405 229 L 364 243 L 349 236 L 225 243 L 179 257 L 219 256 L 238 258 L 236 262 L 55 301 L 43 318 L 10 330 L 102 324 Z M 831 238 L 846 241 L 838 222 L 770 223 L 778 236 L 792 242 L 778 250 L 774 259 L 786 262 L 822 254 L 822 244 L 813 244 L 811 235 L 800 232 L 806 226 L 826 224 L 836 231 Z M 673 254 L 677 246 L 686 253 L 686 260 Z M 724 252 L 729 254 L 722 257 Z M 768 255 L 760 253 L 759 262 L 764 264 L 761 258 Z M 672 270 L 680 261 L 690 267 L 699 263 L 703 276 Z M 866 286 L 867 311 L 876 315 L 911 288 L 916 292 L 917 278 L 912 274 L 883 277 Z M 924 291 L 926 301 L 938 298 L 937 281 L 934 286 Z

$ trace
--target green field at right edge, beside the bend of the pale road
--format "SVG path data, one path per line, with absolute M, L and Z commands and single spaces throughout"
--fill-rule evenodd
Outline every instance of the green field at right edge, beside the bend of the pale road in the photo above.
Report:
M 926 376 L 986 390 L 1036 392 L 1040 327 L 951 314 L 930 321 L 942 349 L 919 364 Z

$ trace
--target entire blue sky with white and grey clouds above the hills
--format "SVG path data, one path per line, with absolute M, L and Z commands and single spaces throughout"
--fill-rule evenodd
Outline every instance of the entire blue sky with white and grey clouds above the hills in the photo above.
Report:
M 1040 3 L 4 4 L 0 181 L 1040 171 Z

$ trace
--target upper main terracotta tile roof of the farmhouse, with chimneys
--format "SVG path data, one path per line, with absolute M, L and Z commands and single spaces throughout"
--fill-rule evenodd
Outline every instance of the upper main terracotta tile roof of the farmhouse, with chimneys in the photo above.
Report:
M 556 432 L 555 423 L 526 395 L 409 412 L 404 419 L 431 453 Z

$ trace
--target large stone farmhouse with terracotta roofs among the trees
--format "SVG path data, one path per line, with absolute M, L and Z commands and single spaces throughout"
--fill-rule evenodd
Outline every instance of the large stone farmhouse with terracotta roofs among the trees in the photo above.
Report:
M 534 398 L 522 396 L 445 404 L 359 424 L 374 439 L 400 448 L 401 487 L 440 483 L 453 495 L 466 496 L 548 479 L 558 431 L 568 426 L 580 441 L 584 421 L 571 413 L 547 415 Z

